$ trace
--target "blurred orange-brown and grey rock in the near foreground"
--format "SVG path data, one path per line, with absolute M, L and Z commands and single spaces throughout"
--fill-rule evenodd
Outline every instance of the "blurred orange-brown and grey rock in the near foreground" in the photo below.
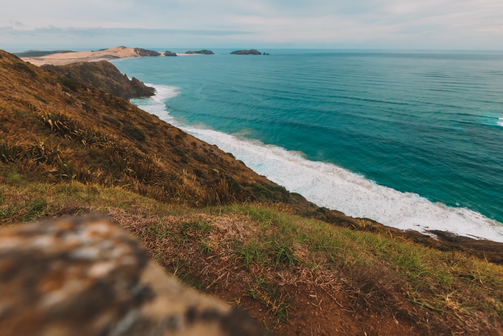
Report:
M 94 215 L 0 231 L 2 335 L 265 335 L 183 287 L 139 241 Z

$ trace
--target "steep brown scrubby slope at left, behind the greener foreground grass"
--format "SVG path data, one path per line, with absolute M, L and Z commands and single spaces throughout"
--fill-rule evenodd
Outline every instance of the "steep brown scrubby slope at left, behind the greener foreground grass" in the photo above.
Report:
M 121 185 L 170 203 L 307 202 L 126 100 L 0 52 L 0 159 L 32 179 Z

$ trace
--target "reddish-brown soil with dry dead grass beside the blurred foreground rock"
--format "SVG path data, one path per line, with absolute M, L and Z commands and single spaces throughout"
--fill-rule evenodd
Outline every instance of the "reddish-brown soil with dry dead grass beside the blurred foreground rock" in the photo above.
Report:
M 241 216 L 198 214 L 162 219 L 165 232 L 180 232 L 180 223 L 184 222 L 211 223 L 206 236 L 196 231 L 187 232 L 188 238 L 181 244 L 173 236 L 159 238 L 159 234 L 148 234 L 148 228 L 159 223 L 158 218 L 131 217 L 113 209 L 109 209 L 109 214 L 142 237 L 151 256 L 166 272 L 245 309 L 275 334 L 501 334 L 490 323 L 481 327 L 454 314 L 438 314 L 413 305 L 401 293 L 400 284 L 391 285 L 396 281 L 382 267 L 353 271 L 339 267 L 316 270 L 304 263 L 277 269 L 267 264 L 243 267 L 232 250 L 232 242 L 238 237 L 248 239 L 257 234 L 258 229 Z M 201 249 L 203 238 L 215 243 L 212 252 Z M 268 287 L 261 288 L 257 279 Z M 282 304 L 285 309 L 278 314 Z

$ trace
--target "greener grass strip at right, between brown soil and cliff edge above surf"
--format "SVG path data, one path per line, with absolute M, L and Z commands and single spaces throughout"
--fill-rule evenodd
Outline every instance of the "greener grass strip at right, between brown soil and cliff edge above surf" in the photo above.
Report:
M 326 223 L 278 213 L 260 206 L 231 206 L 256 221 L 256 238 L 236 244 L 242 266 L 251 264 L 292 268 L 299 263 L 339 269 L 348 278 L 348 289 L 366 304 L 396 307 L 408 301 L 433 312 L 456 314 L 488 309 L 501 318 L 503 273 L 500 266 L 460 252 L 441 252 L 401 238 L 334 228 Z M 301 259 L 294 246 L 309 251 Z M 385 279 L 385 282 L 378 281 Z M 478 288 L 478 290 L 476 290 Z M 446 308 L 449 306 L 450 308 Z M 467 317 L 468 318 L 468 317 Z

